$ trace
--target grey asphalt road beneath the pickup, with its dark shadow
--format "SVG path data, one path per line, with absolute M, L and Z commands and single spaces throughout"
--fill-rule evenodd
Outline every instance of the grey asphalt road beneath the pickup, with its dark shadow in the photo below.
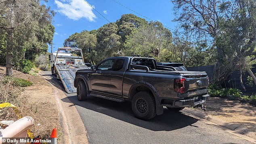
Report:
M 50 72 L 44 73 L 51 77 Z M 56 77 L 50 82 L 65 91 Z M 76 94 L 65 94 L 67 97 L 62 100 L 65 102 L 68 98 L 75 104 L 90 144 L 251 144 L 182 112 L 164 109 L 163 115 L 143 121 L 133 116 L 130 102 L 119 103 L 93 96 L 78 101 Z

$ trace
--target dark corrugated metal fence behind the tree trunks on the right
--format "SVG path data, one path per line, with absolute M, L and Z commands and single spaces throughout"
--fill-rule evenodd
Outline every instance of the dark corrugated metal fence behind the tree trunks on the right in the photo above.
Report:
M 256 65 L 252 65 L 252 72 L 256 73 Z M 214 65 L 208 65 L 208 66 L 200 66 L 200 67 L 188 67 L 187 68 L 188 71 L 205 71 L 208 74 L 209 79 L 212 79 L 212 75 L 214 72 Z M 221 71 L 221 69 L 220 69 Z M 248 86 L 248 81 L 247 81 L 247 77 L 248 77 L 248 73 L 243 72 L 242 73 L 242 81 L 243 81 L 243 85 L 246 88 L 246 91 L 243 90 L 241 83 L 240 83 L 240 71 L 235 71 L 233 74 L 229 75 L 229 77 L 225 80 L 224 83 L 222 83 L 222 87 L 223 88 L 237 88 L 239 89 L 241 92 L 243 92 L 243 94 L 256 94 L 256 86 L 255 84 L 253 84 L 252 87 Z

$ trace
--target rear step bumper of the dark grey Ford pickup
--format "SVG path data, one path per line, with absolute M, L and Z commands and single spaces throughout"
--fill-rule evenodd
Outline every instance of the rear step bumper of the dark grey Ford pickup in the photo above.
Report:
M 205 104 L 207 100 L 209 100 L 210 95 L 205 94 L 200 96 L 200 99 L 197 96 L 185 100 L 177 100 L 174 102 L 174 107 L 196 107 L 201 104 Z

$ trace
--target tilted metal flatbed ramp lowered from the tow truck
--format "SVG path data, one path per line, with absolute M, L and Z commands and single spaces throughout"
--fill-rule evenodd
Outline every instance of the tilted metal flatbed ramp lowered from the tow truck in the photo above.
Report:
M 55 68 L 57 70 L 57 78 L 61 79 L 67 93 L 76 93 L 76 88 L 74 87 L 76 71 L 90 69 L 86 65 L 55 65 Z

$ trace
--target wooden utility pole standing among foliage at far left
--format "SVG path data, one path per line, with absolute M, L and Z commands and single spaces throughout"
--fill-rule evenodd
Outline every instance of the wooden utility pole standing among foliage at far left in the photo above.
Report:
M 7 46 L 6 46 L 6 75 L 13 74 L 13 29 L 14 29 L 14 4 L 15 0 L 10 3 L 10 28 L 7 29 Z

